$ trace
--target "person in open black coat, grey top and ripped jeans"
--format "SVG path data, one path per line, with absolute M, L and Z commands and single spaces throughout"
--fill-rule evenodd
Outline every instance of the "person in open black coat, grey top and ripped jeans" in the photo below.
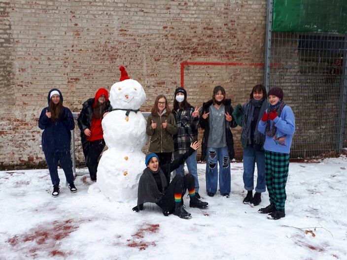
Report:
M 237 127 L 232 117 L 234 109 L 231 99 L 225 98 L 221 86 L 213 89 L 212 99 L 203 104 L 200 127 L 205 129 L 201 161 L 206 159 L 206 191 L 208 196 L 217 192 L 219 163 L 219 190 L 222 196 L 229 197 L 231 191 L 230 160 L 235 156 L 231 128 Z

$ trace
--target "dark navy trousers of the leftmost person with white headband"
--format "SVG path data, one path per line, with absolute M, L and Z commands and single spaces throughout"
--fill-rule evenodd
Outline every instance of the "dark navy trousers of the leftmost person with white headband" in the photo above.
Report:
M 44 157 L 47 162 L 49 175 L 51 175 L 51 180 L 53 186 L 59 186 L 60 179 L 58 176 L 58 161 L 62 166 L 66 181 L 71 184 L 73 183 L 73 172 L 72 172 L 72 161 L 71 154 L 69 152 L 55 152 L 55 153 L 46 153 L 44 152 Z

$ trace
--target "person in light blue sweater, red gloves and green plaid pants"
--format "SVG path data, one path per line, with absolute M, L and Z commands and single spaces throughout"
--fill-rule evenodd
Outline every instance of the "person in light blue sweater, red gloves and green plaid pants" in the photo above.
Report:
M 265 134 L 265 180 L 270 205 L 259 209 L 269 214 L 269 219 L 285 217 L 285 185 L 289 170 L 289 152 L 295 132 L 295 117 L 292 109 L 283 102 L 283 90 L 275 87 L 268 92 L 269 108 L 258 124 Z

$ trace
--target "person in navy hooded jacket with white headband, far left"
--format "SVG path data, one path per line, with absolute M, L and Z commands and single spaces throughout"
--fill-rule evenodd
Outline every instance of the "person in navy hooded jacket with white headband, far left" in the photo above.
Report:
M 70 154 L 71 130 L 75 128 L 75 125 L 71 111 L 63 106 L 63 96 L 60 90 L 50 90 L 47 99 L 48 106 L 41 111 L 38 127 L 43 130 L 41 144 L 53 184 L 52 196 L 57 197 L 60 192 L 58 161 L 64 170 L 70 192 L 77 192 L 73 184 Z

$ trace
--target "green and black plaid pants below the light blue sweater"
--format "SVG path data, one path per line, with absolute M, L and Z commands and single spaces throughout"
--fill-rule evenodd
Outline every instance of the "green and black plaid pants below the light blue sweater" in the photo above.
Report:
M 283 210 L 287 195 L 285 184 L 288 179 L 289 154 L 265 151 L 265 181 L 270 203 L 275 203 L 276 209 Z

